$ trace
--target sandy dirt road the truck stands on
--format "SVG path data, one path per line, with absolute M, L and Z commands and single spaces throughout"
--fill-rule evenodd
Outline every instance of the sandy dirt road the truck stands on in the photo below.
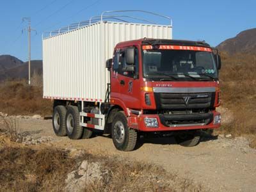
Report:
M 51 120 L 17 118 L 22 134 L 51 137 L 49 145 L 62 148 L 85 149 L 92 154 L 120 156 L 163 166 L 166 171 L 189 178 L 207 191 L 256 191 L 256 150 L 246 138 L 204 137 L 196 147 L 180 147 L 173 138 L 142 139 L 133 152 L 120 152 L 109 136 L 95 136 L 88 140 L 69 140 L 57 137 Z

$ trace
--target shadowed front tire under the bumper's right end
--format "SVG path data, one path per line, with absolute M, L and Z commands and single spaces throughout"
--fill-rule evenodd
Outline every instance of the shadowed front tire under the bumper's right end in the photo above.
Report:
M 181 132 L 174 136 L 175 141 L 183 147 L 193 147 L 200 143 L 200 130 Z

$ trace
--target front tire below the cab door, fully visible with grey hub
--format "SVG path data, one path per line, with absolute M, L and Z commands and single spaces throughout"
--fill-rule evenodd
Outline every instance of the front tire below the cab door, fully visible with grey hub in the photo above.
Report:
M 137 132 L 134 129 L 129 129 L 123 111 L 117 112 L 113 118 L 111 136 L 116 149 L 122 151 L 134 150 L 137 143 Z

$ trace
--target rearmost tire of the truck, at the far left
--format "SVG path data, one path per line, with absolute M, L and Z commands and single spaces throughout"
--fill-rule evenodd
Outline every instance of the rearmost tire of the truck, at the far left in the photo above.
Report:
M 67 136 L 65 118 L 67 109 L 65 106 L 56 106 L 52 114 L 52 127 L 56 136 Z

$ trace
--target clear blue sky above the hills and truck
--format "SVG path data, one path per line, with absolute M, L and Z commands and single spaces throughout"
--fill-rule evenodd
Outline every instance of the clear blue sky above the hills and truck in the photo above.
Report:
M 205 40 L 212 46 L 256 27 L 256 1 L 246 0 L 1 0 L 0 55 L 11 54 L 28 60 L 28 34 L 22 29 L 31 17 L 31 58 L 42 59 L 42 32 L 87 20 L 106 10 L 148 10 L 173 19 L 173 38 Z M 156 19 L 161 22 L 161 20 Z

